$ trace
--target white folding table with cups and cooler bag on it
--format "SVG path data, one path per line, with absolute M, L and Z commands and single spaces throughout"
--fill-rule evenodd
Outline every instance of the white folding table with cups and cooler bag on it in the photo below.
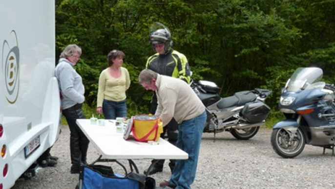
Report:
M 105 126 L 91 124 L 90 119 L 77 119 L 77 124 L 88 140 L 101 154 L 94 163 L 115 162 L 118 159 L 126 159 L 130 164 L 131 170 L 133 165 L 136 172 L 138 172 L 135 163 L 132 161 L 134 159 L 188 159 L 188 154 L 186 152 L 162 138 L 157 142 L 154 142 L 154 144 L 124 140 L 123 133 L 118 133 L 116 131 L 115 120 L 113 119 L 106 119 Z M 118 164 L 120 165 L 120 163 Z M 151 167 L 152 165 L 150 165 L 148 170 L 150 170 Z

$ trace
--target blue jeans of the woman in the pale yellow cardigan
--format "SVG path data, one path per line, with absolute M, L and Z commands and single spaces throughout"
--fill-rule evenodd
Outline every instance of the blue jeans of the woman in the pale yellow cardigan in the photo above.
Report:
M 126 100 L 115 102 L 104 99 L 103 114 L 105 119 L 115 119 L 117 117 L 127 116 Z

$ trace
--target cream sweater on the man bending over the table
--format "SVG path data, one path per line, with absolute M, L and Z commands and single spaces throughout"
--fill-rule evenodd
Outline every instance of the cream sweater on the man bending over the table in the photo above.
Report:
M 155 115 L 167 125 L 172 118 L 180 124 L 205 111 L 205 106 L 183 80 L 158 74 L 156 80 L 158 107 Z

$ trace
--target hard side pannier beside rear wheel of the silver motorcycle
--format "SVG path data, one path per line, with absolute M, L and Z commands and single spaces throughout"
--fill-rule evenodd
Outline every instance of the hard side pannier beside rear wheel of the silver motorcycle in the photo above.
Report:
M 243 118 L 251 123 L 263 121 L 269 113 L 270 107 L 263 102 L 249 102 L 241 111 Z

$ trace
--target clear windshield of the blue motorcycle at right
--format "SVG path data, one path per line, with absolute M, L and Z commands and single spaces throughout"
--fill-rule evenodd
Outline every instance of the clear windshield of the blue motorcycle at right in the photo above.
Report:
M 298 68 L 291 76 L 286 90 L 295 92 L 311 88 L 314 83 L 322 79 L 322 75 L 323 71 L 319 68 Z

